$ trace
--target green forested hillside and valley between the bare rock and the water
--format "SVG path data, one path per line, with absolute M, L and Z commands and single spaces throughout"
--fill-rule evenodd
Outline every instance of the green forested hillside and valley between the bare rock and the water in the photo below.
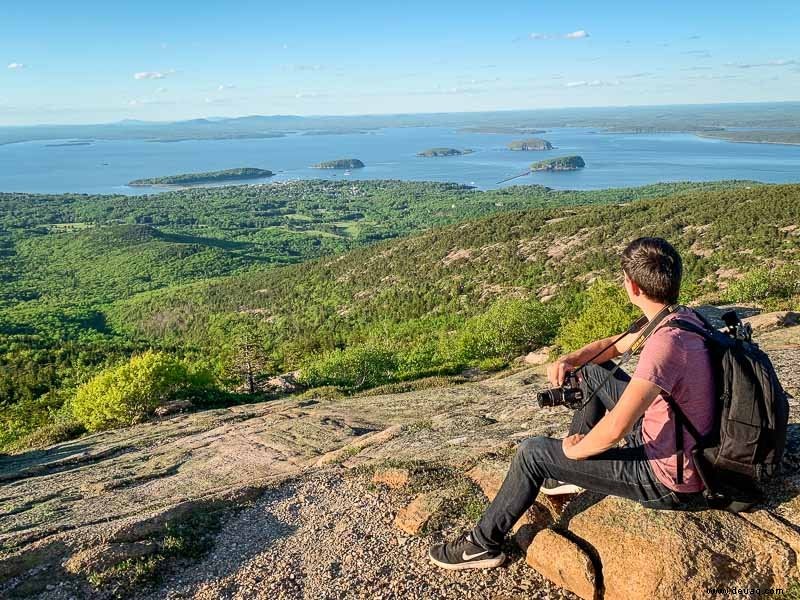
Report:
M 796 305 L 798 222 L 800 186 L 746 181 L 0 194 L 0 444 L 253 401 L 289 371 L 352 393 L 574 347 L 630 317 L 640 235 L 681 250 L 686 300 Z

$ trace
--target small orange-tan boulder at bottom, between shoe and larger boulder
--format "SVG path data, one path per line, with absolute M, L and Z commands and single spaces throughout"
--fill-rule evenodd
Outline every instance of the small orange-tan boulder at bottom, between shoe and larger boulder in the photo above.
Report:
M 584 600 L 596 596 L 597 574 L 592 559 L 578 544 L 552 529 L 536 534 L 525 553 L 525 562 Z

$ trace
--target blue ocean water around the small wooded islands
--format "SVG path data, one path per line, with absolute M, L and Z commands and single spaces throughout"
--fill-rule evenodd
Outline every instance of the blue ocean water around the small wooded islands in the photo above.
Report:
M 272 181 L 403 179 L 490 189 L 498 187 L 500 180 L 524 172 L 533 161 L 565 154 L 581 155 L 586 168 L 535 173 L 503 185 L 600 189 L 661 181 L 800 181 L 800 146 L 731 143 L 691 134 L 605 134 L 586 128 L 555 128 L 536 135 L 549 140 L 554 150 L 512 152 L 505 148 L 508 142 L 525 137 L 531 136 L 407 127 L 341 135 L 169 143 L 98 140 L 90 145 L 52 146 L 49 144 L 57 141 L 24 142 L 0 146 L 0 192 L 144 194 L 158 188 L 130 188 L 127 182 L 236 167 L 269 169 L 276 173 Z M 475 152 L 416 156 L 438 146 Z M 337 158 L 358 158 L 366 166 L 350 174 L 310 168 Z

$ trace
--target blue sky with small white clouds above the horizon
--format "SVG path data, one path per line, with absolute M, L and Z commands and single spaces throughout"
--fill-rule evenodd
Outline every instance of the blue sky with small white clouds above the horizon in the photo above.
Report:
M 800 100 L 797 0 L 2 10 L 0 125 Z

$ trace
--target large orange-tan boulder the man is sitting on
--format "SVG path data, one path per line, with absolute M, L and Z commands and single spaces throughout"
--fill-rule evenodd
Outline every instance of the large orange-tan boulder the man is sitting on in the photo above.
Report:
M 564 525 L 596 554 L 606 600 L 702 598 L 734 584 L 785 589 L 797 577 L 789 543 L 732 513 L 657 511 L 608 497 Z

